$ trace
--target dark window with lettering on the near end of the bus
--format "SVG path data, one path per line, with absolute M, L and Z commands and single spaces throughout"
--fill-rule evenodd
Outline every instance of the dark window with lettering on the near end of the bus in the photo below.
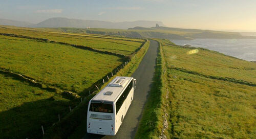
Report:
M 113 113 L 113 104 L 111 102 L 91 101 L 89 110 L 94 112 Z

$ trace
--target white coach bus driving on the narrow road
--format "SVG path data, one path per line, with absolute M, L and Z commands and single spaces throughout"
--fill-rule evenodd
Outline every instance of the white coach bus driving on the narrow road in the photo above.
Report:
M 132 101 L 136 79 L 116 77 L 96 96 L 88 106 L 87 132 L 115 135 Z

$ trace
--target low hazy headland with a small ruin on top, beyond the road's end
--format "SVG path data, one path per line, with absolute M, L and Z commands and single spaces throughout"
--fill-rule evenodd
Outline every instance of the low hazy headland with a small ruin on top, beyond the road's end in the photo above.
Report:
M 197 39 L 197 38 L 215 38 L 215 39 L 242 39 L 253 38 L 255 36 L 242 36 L 238 32 L 224 32 L 212 30 L 199 30 L 199 29 L 180 29 L 168 27 L 134 27 L 127 30 L 114 30 L 114 29 L 63 29 L 69 32 L 86 32 L 91 34 L 106 34 L 118 35 L 123 37 L 134 38 L 161 38 L 161 39 Z

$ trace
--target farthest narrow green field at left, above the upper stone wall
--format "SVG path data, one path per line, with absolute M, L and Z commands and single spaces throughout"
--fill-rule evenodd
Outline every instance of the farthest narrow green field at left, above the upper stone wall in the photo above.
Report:
M 107 51 L 122 55 L 130 55 L 140 47 L 142 39 L 123 39 L 108 36 L 93 36 L 71 33 L 42 32 L 40 29 L 0 28 L 0 33 L 23 35 L 35 38 L 45 38 L 50 41 L 83 45 L 100 51 Z

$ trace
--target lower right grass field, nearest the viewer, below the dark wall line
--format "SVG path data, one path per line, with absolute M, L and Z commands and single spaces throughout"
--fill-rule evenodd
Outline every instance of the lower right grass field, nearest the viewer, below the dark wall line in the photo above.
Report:
M 175 117 L 172 115 L 173 137 L 255 137 L 255 87 L 171 68 L 168 75 L 176 113 Z

